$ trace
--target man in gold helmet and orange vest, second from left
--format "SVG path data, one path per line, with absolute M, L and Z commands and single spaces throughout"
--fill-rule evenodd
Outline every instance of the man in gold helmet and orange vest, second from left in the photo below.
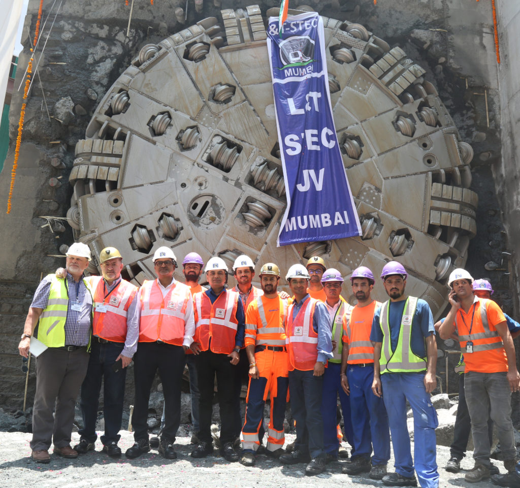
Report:
M 121 278 L 123 258 L 112 247 L 99 254 L 102 276 L 85 278 L 94 293 L 92 350 L 87 375 L 81 386 L 83 428 L 79 454 L 93 451 L 97 439 L 96 420 L 99 392 L 103 379 L 103 418 L 105 435 L 101 435 L 103 452 L 120 457 L 119 431 L 123 416 L 126 367 L 132 362 L 139 337 L 139 298 L 137 287 Z M 58 270 L 59 272 L 60 270 Z

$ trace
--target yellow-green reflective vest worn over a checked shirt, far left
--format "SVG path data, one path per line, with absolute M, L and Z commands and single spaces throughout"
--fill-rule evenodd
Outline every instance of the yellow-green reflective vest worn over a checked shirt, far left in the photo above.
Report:
M 67 278 L 56 278 L 54 274 L 48 276 L 50 277 L 49 298 L 47 306 L 40 315 L 40 323 L 35 337 L 49 348 L 61 348 L 65 345 L 65 321 L 69 306 Z M 92 288 L 85 278 L 83 278 L 83 282 L 92 297 Z M 92 315 L 90 320 L 92 323 Z M 92 327 L 90 328 L 90 336 L 92 336 Z M 90 336 L 87 350 L 90 350 Z

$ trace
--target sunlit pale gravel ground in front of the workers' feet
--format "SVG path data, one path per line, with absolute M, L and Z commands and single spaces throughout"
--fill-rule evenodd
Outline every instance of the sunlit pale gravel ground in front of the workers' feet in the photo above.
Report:
M 286 442 L 294 440 L 294 434 L 287 434 Z M 62 459 L 54 454 L 50 463 L 37 464 L 30 459 L 31 434 L 21 432 L 0 432 L 0 488 L 19 488 L 37 486 L 37 488 L 110 487 L 110 488 L 171 488 L 172 485 L 190 487 L 297 487 L 319 488 L 333 483 L 340 486 L 352 483 L 363 488 L 384 486 L 381 481 L 369 478 L 349 477 L 342 474 L 342 461 L 331 463 L 327 471 L 319 476 L 306 477 L 305 465 L 282 466 L 277 460 L 258 456 L 256 466 L 246 468 L 239 463 L 228 463 L 215 451 L 213 456 L 194 459 L 189 454 L 192 449 L 189 437 L 179 437 L 176 441 L 176 460 L 163 459 L 157 450 L 129 460 L 124 457 L 112 459 L 101 452 L 102 445 L 96 443 L 96 451 L 89 452 L 77 459 Z M 72 443 L 79 440 L 79 434 L 72 434 Z M 121 432 L 120 447 L 124 451 L 133 444 L 133 435 Z M 473 459 L 466 457 L 462 467 L 470 469 Z M 437 463 L 440 473 L 440 487 L 468 486 L 464 482 L 464 472 L 448 473 L 444 470 L 449 459 L 449 448 L 437 446 Z M 501 461 L 495 461 L 502 473 L 505 472 Z M 392 471 L 393 459 L 388 463 Z M 479 482 L 476 488 L 491 488 L 489 480 Z

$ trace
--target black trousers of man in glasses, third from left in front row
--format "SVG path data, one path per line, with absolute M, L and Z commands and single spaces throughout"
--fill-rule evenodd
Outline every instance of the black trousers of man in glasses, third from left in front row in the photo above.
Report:
M 139 342 L 134 355 L 135 401 L 132 426 L 134 439 L 148 439 L 148 402 L 155 373 L 164 393 L 165 425 L 162 438 L 171 442 L 180 423 L 180 386 L 183 378 L 185 354 L 182 346 Z

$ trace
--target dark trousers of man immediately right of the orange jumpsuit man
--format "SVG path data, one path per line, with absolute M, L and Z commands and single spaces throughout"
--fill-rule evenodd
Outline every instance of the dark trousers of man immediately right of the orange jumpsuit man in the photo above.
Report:
M 323 450 L 323 419 L 321 417 L 321 394 L 323 376 L 313 376 L 313 371 L 289 371 L 289 394 L 291 411 L 296 421 L 295 449 L 311 457 Z M 336 412 L 334 411 L 334 419 Z

